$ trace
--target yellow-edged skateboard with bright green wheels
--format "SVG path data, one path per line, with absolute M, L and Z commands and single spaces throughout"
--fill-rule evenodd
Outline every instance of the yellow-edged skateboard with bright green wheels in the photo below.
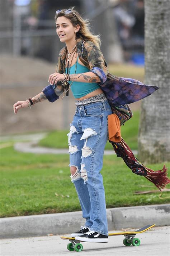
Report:
M 123 244 L 125 246 L 130 246 L 131 244 L 133 246 L 139 246 L 140 245 L 140 239 L 138 238 L 134 238 L 136 234 L 140 234 L 140 233 L 143 233 L 145 232 L 146 230 L 150 229 L 150 228 L 153 228 L 155 226 L 155 224 L 153 225 L 147 225 L 141 229 L 138 229 L 136 231 L 127 231 L 127 232 L 119 232 L 119 233 L 109 233 L 108 235 L 109 236 L 112 236 L 112 235 L 124 235 L 124 239 L 123 239 Z M 82 251 L 83 249 L 83 246 L 82 244 L 80 243 L 80 240 L 76 240 L 75 237 L 60 237 L 61 239 L 63 240 L 69 240 L 70 243 L 67 244 L 67 249 L 69 251 L 76 251 L 76 252 L 80 252 Z M 84 242 L 84 241 L 83 241 Z M 88 242 L 90 243 L 90 242 Z

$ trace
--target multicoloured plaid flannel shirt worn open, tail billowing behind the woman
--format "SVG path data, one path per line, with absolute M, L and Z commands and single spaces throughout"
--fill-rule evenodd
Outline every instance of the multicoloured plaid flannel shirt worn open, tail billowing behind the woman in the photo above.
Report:
M 66 46 L 60 50 L 58 56 L 57 73 L 64 72 Z M 130 104 L 141 100 L 159 89 L 157 86 L 145 85 L 133 78 L 116 77 L 108 72 L 107 63 L 100 49 L 91 41 L 77 39 L 77 53 L 81 62 L 100 78 L 98 83 L 111 106 Z M 48 85 L 43 89 L 50 102 L 54 102 L 63 93 L 63 85 L 58 81 L 56 85 Z

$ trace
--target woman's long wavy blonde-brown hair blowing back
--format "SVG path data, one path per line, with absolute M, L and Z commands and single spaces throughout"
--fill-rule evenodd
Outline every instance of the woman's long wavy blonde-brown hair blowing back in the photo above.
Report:
M 93 42 L 99 49 L 101 45 L 100 35 L 94 35 L 90 32 L 90 21 L 89 19 L 83 19 L 80 14 L 74 10 L 74 6 L 70 8 L 71 13 L 66 14 L 67 9 L 62 9 L 61 12 L 55 15 L 55 23 L 58 17 L 65 16 L 67 19 L 70 19 L 72 25 L 75 27 L 77 24 L 80 25 L 79 31 L 76 33 L 76 39 L 81 38 L 82 40 L 89 40 Z M 74 13 L 74 14 L 73 14 Z M 75 15 L 75 16 L 74 16 Z

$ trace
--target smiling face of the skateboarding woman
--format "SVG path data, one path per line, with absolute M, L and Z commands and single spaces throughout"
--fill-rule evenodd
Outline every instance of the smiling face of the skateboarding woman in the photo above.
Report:
M 74 27 L 70 19 L 67 19 L 65 16 L 58 17 L 56 21 L 56 32 L 60 41 L 68 42 L 75 39 L 75 33 L 79 30 L 77 26 Z

